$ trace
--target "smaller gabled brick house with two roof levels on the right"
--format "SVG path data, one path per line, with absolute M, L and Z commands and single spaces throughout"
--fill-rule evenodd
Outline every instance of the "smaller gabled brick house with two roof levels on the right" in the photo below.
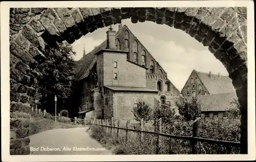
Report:
M 198 99 L 205 119 L 226 118 L 225 111 L 230 107 L 232 99 L 237 98 L 236 89 L 228 76 L 196 70 L 188 77 L 181 94 L 187 99 Z

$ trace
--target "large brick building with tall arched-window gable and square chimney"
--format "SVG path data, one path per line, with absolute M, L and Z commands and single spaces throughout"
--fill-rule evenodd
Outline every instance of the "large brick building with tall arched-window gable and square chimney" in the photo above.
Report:
M 142 99 L 154 106 L 154 97 L 178 96 L 179 90 L 127 26 L 112 27 L 106 40 L 77 61 L 79 113 L 110 119 L 132 118 Z M 85 114 L 84 114 L 85 113 Z

